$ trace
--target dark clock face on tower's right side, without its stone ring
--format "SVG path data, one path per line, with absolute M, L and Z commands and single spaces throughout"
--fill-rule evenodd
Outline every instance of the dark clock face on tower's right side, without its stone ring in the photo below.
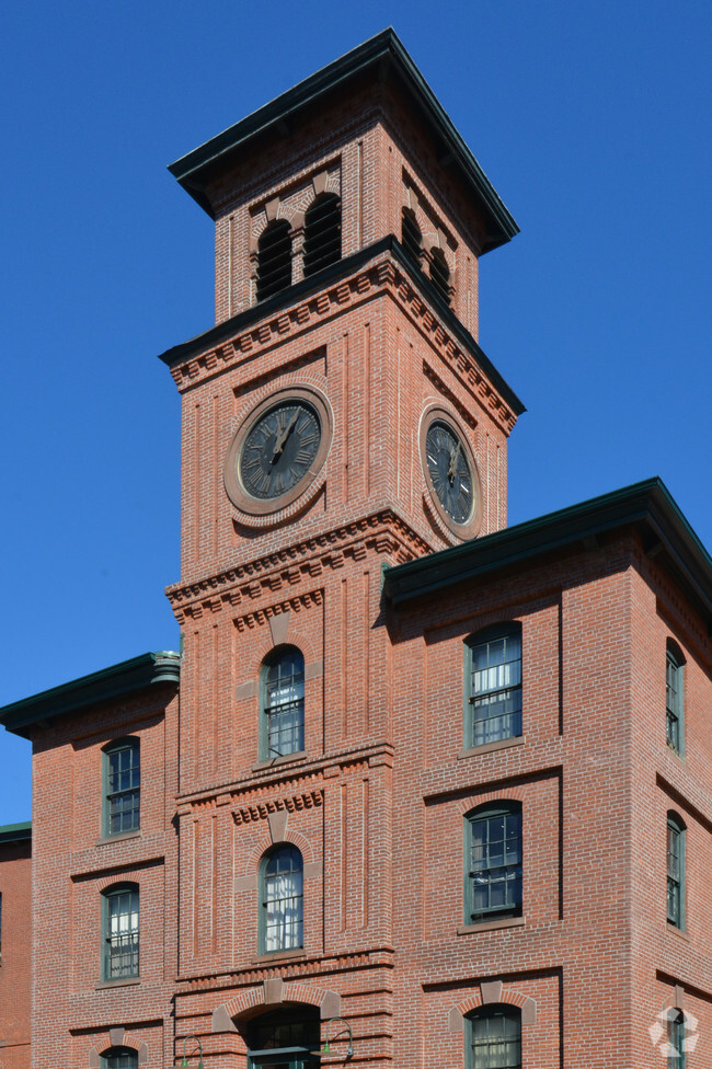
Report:
M 470 451 L 447 421 L 437 418 L 429 424 L 424 459 L 433 492 L 446 516 L 458 525 L 470 524 L 476 505 Z

